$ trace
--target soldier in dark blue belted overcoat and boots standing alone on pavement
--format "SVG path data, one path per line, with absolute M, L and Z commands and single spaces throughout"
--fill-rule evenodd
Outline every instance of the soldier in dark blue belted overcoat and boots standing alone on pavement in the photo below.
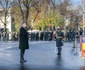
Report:
M 61 32 L 61 29 L 58 28 L 58 31 L 56 31 L 56 47 L 58 49 L 57 55 L 61 55 L 61 50 L 62 50 L 62 46 L 63 46 L 63 42 L 62 42 L 63 38 L 64 38 L 64 34 L 63 34 L 63 32 Z

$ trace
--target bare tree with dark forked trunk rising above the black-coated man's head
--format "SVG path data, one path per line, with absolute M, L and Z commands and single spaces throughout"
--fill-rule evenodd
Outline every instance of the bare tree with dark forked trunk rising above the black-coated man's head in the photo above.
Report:
M 17 0 L 16 4 L 20 9 L 23 22 L 28 23 L 29 9 L 31 7 L 32 0 Z

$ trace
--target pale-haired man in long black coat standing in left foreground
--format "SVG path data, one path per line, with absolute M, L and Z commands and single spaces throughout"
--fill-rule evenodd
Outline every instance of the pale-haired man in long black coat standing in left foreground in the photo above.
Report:
M 27 62 L 24 59 L 25 50 L 29 49 L 28 32 L 26 30 L 26 23 L 22 23 L 22 26 L 20 28 L 19 49 L 20 49 L 20 62 L 21 63 Z

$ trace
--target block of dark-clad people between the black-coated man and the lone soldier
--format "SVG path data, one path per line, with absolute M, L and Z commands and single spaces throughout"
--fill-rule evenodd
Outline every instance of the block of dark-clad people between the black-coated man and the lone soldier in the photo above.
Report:
M 32 32 L 29 34 L 29 39 L 31 41 L 49 41 L 52 40 L 53 32 Z

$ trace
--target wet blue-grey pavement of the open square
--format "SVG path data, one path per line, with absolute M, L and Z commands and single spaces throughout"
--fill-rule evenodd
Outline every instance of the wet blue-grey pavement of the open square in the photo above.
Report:
M 65 42 L 62 55 L 57 56 L 55 41 L 33 41 L 26 50 L 26 63 L 19 61 L 18 42 L 0 42 L 0 70 L 82 70 L 85 60 L 79 55 L 80 46 L 73 49 L 73 43 Z

